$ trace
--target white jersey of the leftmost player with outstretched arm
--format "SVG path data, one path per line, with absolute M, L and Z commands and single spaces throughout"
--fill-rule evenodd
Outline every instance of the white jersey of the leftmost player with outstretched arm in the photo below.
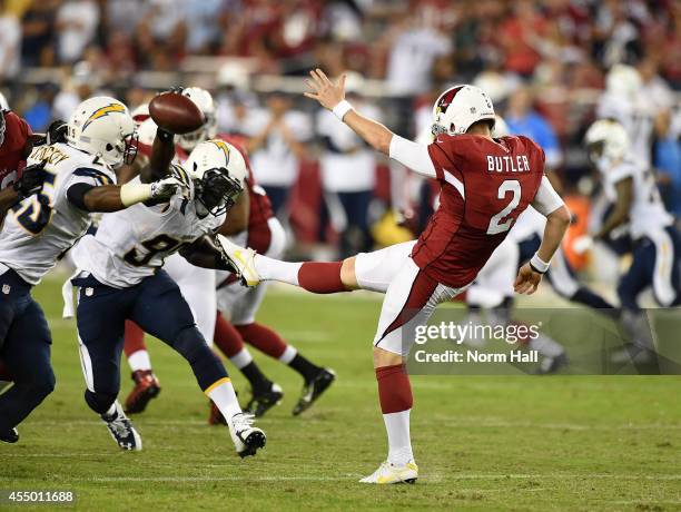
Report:
M 42 191 L 14 206 L 0 233 L 0 273 L 4 265 L 31 285 L 40 282 L 90 225 L 90 214 L 67 198 L 69 187 L 116 183 L 116 175 L 100 159 L 66 144 L 33 149 L 27 164 L 40 161 L 46 163 L 47 171 Z

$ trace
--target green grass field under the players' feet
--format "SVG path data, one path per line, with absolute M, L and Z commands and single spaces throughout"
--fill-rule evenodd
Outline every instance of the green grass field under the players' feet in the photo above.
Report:
M 206 423 L 189 366 L 152 341 L 162 393 L 134 419 L 145 451 L 121 453 L 82 400 L 59 292 L 57 282 L 36 291 L 55 337 L 57 390 L 20 426 L 21 442 L 0 446 L 0 489 L 72 490 L 77 508 L 99 511 L 681 510 L 681 381 L 669 376 L 414 377 L 418 483 L 358 484 L 386 453 L 369 351 L 379 303 L 367 296 L 267 297 L 259 319 L 338 381 L 294 419 L 300 380 L 256 355 L 287 394 L 259 423 L 266 450 L 246 461 Z

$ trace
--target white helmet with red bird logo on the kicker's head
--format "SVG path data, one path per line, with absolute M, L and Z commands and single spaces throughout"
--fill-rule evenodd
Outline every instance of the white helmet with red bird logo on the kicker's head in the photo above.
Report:
M 490 120 L 490 128 L 493 128 L 495 119 L 494 106 L 484 90 L 475 86 L 455 86 L 435 101 L 432 131 L 434 136 L 461 135 L 482 120 Z

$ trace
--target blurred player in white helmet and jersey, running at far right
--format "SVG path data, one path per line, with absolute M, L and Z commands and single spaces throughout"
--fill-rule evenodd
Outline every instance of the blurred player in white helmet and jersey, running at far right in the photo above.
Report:
M 634 341 L 628 352 L 636 356 L 641 348 L 653 349 L 638 304 L 641 292 L 652 288 L 662 307 L 681 305 L 681 236 L 662 203 L 652 170 L 631 151 L 622 125 L 610 119 L 595 121 L 586 131 L 585 144 L 605 196 L 614 206 L 601 228 L 575 240 L 574 247 L 583 252 L 593 240 L 606 239 L 615 228 L 629 223 L 634 242 L 632 263 L 620 278 L 618 295 L 622 322 Z

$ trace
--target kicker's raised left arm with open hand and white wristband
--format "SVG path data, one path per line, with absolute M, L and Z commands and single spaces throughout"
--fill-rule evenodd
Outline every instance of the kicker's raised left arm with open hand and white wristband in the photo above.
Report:
M 345 100 L 345 75 L 334 85 L 320 69 L 309 72 L 312 80 L 307 86 L 312 92 L 305 92 L 307 98 L 315 99 L 319 105 L 345 122 L 366 144 L 377 151 L 389 156 L 409 169 L 426 176 L 435 177 L 435 168 L 428 155 L 427 146 L 404 139 L 381 122 L 376 122 L 353 109 Z

